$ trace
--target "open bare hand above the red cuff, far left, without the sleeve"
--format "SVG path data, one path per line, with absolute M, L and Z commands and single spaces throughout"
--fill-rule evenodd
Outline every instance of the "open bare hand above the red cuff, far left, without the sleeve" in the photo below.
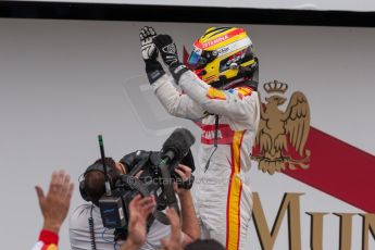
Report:
M 35 189 L 45 218 L 43 229 L 59 234 L 71 205 L 73 184 L 70 175 L 64 171 L 53 172 L 47 196 L 41 187 Z

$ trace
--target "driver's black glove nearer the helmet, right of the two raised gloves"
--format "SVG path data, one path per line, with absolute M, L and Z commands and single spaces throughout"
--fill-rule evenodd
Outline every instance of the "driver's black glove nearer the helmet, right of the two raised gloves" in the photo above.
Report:
M 179 62 L 177 48 L 172 37 L 168 35 L 158 35 L 153 38 L 153 43 L 157 46 L 165 65 L 168 66 L 176 84 L 178 84 L 179 77 L 189 70 Z

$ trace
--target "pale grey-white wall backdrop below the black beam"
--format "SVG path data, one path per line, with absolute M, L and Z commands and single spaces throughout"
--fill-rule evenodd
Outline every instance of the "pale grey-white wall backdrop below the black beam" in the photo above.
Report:
M 76 184 L 72 208 L 82 203 L 78 176 L 99 158 L 97 135 L 108 155 L 161 148 L 168 132 L 189 122 L 170 117 L 146 82 L 139 55 L 142 25 L 171 34 L 182 51 L 208 24 L 0 20 L 0 237 L 2 249 L 30 249 L 41 227 L 34 185 L 47 188 L 53 170 Z M 312 126 L 375 154 L 374 28 L 245 26 L 261 60 L 261 82 L 303 91 Z M 140 86 L 140 87 L 138 87 Z M 284 192 L 301 197 L 302 243 L 310 246 L 309 212 L 361 212 L 285 175 L 251 171 L 271 222 Z M 365 199 L 365 198 L 364 198 Z M 61 249 L 68 249 L 66 223 Z M 361 220 L 353 223 L 360 249 Z M 20 240 L 22 238 L 22 240 Z M 253 226 L 251 249 L 260 249 Z M 372 243 L 374 240 L 372 240 Z M 275 249 L 287 249 L 283 224 Z M 374 245 L 372 245 L 374 247 Z M 325 220 L 324 249 L 338 248 L 338 218 Z M 372 248 L 371 248 L 372 249 Z

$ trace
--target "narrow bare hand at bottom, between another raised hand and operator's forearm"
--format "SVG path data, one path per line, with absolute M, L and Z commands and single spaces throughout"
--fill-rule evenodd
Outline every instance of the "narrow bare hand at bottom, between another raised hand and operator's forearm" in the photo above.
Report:
M 164 250 L 183 250 L 182 246 L 182 230 L 179 217 L 176 210 L 167 209 L 166 216 L 171 222 L 171 236 L 170 238 L 162 239 L 162 246 Z

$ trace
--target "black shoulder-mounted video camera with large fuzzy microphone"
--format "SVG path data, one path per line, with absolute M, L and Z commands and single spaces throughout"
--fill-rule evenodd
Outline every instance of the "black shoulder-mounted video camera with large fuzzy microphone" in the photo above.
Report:
M 174 170 L 179 163 L 190 166 L 191 172 L 195 170 L 190 151 L 193 142 L 195 137 L 189 130 L 177 128 L 163 143 L 161 151 L 137 151 L 133 155 L 124 157 L 121 162 L 126 165 L 130 164 L 130 172 L 121 175 L 112 190 L 108 190 L 110 185 L 105 185 L 107 193 L 99 200 L 104 227 L 126 228 L 129 220 L 129 203 L 138 193 L 142 197 L 154 196 L 157 210 L 152 214 L 152 221 L 157 218 L 163 224 L 168 224 L 168 220 L 161 211 L 167 205 L 179 211 L 173 183 L 180 179 Z M 136 177 L 139 171 L 142 171 L 142 174 Z M 188 184 L 177 183 L 179 186 L 191 186 L 193 178 Z

